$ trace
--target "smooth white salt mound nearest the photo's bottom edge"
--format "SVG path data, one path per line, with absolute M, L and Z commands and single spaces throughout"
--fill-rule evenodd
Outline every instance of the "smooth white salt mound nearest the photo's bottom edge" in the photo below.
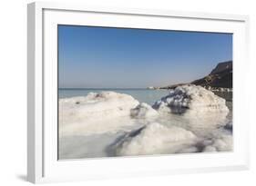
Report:
M 130 132 L 116 144 L 117 155 L 145 155 L 175 153 L 188 149 L 197 137 L 177 126 L 164 126 L 158 122 Z

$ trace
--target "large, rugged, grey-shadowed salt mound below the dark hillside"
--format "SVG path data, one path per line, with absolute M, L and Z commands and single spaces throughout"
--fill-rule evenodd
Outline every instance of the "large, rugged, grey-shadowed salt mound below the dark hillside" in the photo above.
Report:
M 169 95 L 154 103 L 153 108 L 160 113 L 186 113 L 199 116 L 207 113 L 221 113 L 226 116 L 229 113 L 225 99 L 194 84 L 172 89 Z

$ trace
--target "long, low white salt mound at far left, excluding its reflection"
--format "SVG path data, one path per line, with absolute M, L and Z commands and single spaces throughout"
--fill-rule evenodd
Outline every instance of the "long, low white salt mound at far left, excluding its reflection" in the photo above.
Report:
M 128 116 L 138 101 L 124 93 L 88 93 L 86 97 L 61 99 L 59 102 L 61 122 L 105 120 Z

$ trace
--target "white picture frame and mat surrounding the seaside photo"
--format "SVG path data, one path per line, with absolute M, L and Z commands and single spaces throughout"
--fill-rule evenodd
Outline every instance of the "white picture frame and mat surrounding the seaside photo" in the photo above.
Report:
M 232 33 L 233 152 L 58 161 L 56 152 L 57 24 Z M 248 103 L 240 99 L 246 96 L 244 82 L 246 81 L 245 67 L 248 64 L 248 25 L 249 18 L 246 15 L 89 7 L 65 3 L 29 4 L 27 11 L 27 180 L 34 183 L 81 181 L 248 169 L 249 121 L 246 117 Z

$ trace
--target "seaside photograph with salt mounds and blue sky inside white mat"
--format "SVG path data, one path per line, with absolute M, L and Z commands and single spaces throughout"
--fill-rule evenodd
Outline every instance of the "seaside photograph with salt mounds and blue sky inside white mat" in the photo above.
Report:
M 232 152 L 232 50 L 232 33 L 58 24 L 58 160 Z

